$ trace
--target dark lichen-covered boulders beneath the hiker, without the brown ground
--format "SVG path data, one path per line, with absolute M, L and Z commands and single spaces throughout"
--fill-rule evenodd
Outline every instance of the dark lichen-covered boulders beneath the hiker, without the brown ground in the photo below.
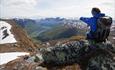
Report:
M 72 41 L 56 47 L 41 48 L 40 54 L 42 58 L 38 54 L 34 56 L 35 62 L 43 61 L 43 65 L 49 67 L 78 63 L 83 70 L 115 69 L 115 47 L 109 42 Z

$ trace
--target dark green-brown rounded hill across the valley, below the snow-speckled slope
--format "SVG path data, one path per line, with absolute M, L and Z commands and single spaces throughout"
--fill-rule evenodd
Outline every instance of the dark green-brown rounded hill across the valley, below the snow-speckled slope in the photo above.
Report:
M 70 38 L 75 35 L 85 35 L 85 30 L 76 27 L 68 27 L 64 25 L 57 25 L 49 30 L 39 34 L 36 39 L 41 41 L 50 41 L 56 39 Z

